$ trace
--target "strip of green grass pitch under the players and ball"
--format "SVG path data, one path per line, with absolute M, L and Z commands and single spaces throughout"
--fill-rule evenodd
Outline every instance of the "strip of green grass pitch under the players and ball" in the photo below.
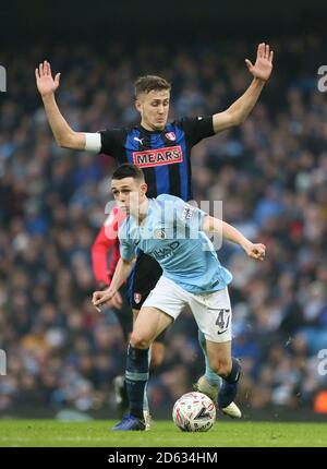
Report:
M 183 433 L 171 421 L 149 432 L 110 432 L 116 421 L 0 420 L 7 447 L 235 447 L 327 446 L 327 423 L 216 422 L 207 433 Z

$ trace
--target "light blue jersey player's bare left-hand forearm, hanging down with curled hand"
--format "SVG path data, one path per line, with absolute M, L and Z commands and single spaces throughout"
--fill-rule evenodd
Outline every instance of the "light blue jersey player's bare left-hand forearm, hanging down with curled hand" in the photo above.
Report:
M 126 261 L 120 257 L 108 290 L 95 291 L 93 293 L 92 303 L 97 311 L 100 312 L 100 306 L 111 301 L 112 298 L 116 296 L 119 288 L 122 286 L 122 284 L 128 279 L 129 275 L 131 274 L 135 260 L 136 257 L 133 257 L 130 261 Z

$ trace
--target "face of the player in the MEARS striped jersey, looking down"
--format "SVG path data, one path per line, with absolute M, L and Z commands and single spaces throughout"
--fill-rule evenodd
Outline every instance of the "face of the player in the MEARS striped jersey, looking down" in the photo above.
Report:
M 170 92 L 168 89 L 142 93 L 136 99 L 141 124 L 147 130 L 164 130 L 168 119 Z

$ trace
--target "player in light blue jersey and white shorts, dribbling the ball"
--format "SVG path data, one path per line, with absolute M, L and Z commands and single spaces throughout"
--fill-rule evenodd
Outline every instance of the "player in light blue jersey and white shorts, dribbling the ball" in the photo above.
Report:
M 129 345 L 125 381 L 130 413 L 113 430 L 145 430 L 143 398 L 150 345 L 187 305 L 205 337 L 209 366 L 223 381 L 218 407 L 222 411 L 232 407 L 240 413 L 233 402 L 240 363 L 231 357 L 231 305 L 227 288 L 232 275 L 220 264 L 206 232 L 221 233 L 259 261 L 265 257 L 265 245 L 252 243 L 232 226 L 179 197 L 161 194 L 148 199 L 143 171 L 134 165 L 122 165 L 113 172 L 111 190 L 128 215 L 119 230 L 121 258 L 109 289 L 96 291 L 93 304 L 99 308 L 116 294 L 133 268 L 137 249 L 162 267 L 162 276 L 137 315 Z

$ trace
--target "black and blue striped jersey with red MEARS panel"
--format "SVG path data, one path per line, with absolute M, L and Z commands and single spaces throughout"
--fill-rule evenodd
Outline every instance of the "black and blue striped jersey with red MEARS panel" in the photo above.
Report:
M 213 117 L 183 118 L 168 123 L 162 131 L 147 131 L 142 125 L 100 132 L 100 153 L 121 165 L 130 163 L 143 169 L 147 195 L 193 197 L 191 149 L 214 135 Z

